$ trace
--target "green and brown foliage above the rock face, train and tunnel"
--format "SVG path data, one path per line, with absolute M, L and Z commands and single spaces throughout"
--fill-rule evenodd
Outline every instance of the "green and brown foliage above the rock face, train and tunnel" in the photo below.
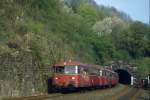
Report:
M 42 66 L 69 58 L 104 64 L 150 56 L 148 25 L 115 8 L 91 0 L 0 2 L 2 48 L 31 50 Z

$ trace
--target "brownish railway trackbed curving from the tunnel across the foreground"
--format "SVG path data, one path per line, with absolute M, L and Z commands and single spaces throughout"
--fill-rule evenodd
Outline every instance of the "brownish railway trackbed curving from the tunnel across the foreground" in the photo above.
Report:
M 116 87 L 106 89 L 86 90 L 67 94 L 55 93 L 41 96 L 5 98 L 3 100 L 150 100 L 150 97 L 142 89 L 119 84 Z

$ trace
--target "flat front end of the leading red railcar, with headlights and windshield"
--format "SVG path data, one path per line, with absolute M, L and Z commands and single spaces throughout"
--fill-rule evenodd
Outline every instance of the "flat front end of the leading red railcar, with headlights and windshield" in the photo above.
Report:
M 74 90 L 78 87 L 78 66 L 53 66 L 53 85 L 58 90 Z

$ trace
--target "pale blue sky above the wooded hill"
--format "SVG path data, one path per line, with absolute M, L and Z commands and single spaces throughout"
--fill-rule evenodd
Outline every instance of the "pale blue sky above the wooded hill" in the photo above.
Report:
M 95 0 L 98 4 L 113 6 L 127 13 L 133 20 L 149 22 L 149 0 Z

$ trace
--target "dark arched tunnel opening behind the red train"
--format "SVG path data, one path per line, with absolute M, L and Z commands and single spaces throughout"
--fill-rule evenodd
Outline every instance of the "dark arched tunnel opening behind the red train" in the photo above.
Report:
M 115 72 L 119 75 L 119 83 L 129 85 L 131 83 L 131 74 L 123 69 L 118 69 Z

